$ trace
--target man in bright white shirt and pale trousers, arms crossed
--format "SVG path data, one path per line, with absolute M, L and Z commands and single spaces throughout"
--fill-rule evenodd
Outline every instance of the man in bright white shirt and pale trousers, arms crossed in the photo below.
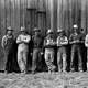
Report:
M 21 34 L 16 38 L 18 44 L 18 64 L 21 73 L 26 73 L 26 59 L 29 54 L 29 43 L 31 36 L 26 33 L 25 28 L 21 26 Z

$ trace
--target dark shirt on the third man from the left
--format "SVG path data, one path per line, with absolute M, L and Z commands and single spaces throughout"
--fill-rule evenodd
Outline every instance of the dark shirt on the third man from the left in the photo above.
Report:
M 38 36 L 33 36 L 33 47 L 34 48 L 43 48 L 43 37 L 41 35 Z

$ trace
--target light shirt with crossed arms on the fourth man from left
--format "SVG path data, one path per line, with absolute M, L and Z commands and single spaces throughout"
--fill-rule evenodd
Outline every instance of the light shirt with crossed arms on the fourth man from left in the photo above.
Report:
M 55 46 L 55 41 L 54 41 L 54 37 L 52 36 L 46 36 L 45 40 L 44 40 L 44 46 L 46 48 L 52 48 Z

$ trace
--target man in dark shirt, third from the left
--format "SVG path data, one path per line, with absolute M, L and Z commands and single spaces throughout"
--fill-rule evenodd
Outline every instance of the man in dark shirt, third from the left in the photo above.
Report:
M 32 74 L 35 74 L 36 68 L 42 68 L 42 55 L 43 55 L 43 37 L 41 30 L 35 28 L 33 40 L 33 58 L 32 58 Z

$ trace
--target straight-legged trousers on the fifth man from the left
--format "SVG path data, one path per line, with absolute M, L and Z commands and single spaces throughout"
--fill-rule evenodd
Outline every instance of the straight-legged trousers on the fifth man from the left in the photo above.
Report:
M 59 47 L 57 51 L 57 65 L 58 65 L 58 72 L 65 72 L 66 66 L 67 66 L 67 61 L 66 61 L 66 47 Z

